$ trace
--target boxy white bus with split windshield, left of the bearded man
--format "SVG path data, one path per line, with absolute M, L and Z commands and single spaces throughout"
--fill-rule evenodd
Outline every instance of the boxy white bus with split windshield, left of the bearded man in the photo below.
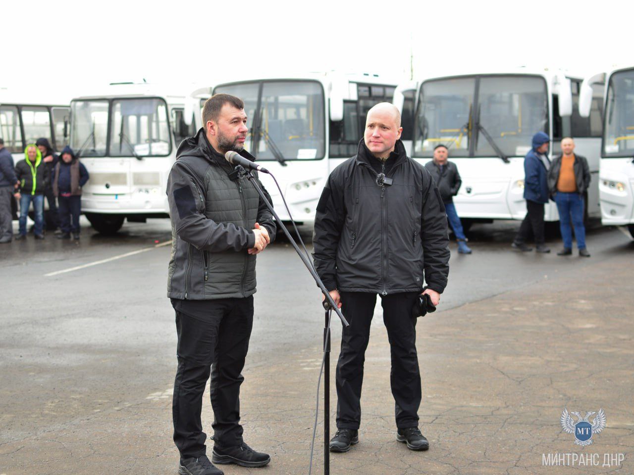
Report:
M 70 145 L 90 174 L 82 212 L 96 231 L 169 217 L 167 175 L 181 141 L 200 126 L 199 96 L 210 92 L 174 89 L 112 84 L 105 94 L 71 101 Z

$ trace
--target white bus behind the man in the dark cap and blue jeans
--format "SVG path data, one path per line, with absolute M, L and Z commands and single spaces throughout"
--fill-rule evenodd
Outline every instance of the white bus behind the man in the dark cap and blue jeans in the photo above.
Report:
M 560 152 L 563 137 L 574 137 L 593 177 L 586 209 L 598 217 L 602 89 L 595 87 L 592 114 L 582 118 L 576 106 L 580 85 L 580 78 L 563 72 L 526 68 L 456 74 L 399 86 L 395 105 L 408 117 L 417 89 L 411 156 L 424 164 L 438 144 L 448 147 L 462 177 L 454 201 L 465 228 L 473 222 L 524 219 L 524 156 L 539 131 L 552 137 L 551 156 Z M 545 219 L 559 219 L 552 201 Z

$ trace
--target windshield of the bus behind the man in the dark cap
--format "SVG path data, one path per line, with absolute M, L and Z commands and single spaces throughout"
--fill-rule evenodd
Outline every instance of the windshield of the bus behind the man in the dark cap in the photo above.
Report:
M 531 137 L 548 132 L 547 98 L 546 82 L 539 76 L 425 82 L 420 90 L 414 155 L 432 156 L 434 147 L 444 144 L 453 157 L 497 156 L 496 148 L 505 156 L 524 156 Z

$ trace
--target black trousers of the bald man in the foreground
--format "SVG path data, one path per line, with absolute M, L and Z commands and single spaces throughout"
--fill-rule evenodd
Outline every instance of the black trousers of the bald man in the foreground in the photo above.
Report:
M 390 383 L 396 402 L 396 427 L 418 426 L 421 387 L 416 353 L 416 321 L 412 309 L 418 292 L 381 297 L 383 322 L 390 342 Z M 358 429 L 361 423 L 361 385 L 365 350 L 377 295 L 341 292 L 342 312 L 350 326 L 343 329 L 337 362 L 337 428 Z

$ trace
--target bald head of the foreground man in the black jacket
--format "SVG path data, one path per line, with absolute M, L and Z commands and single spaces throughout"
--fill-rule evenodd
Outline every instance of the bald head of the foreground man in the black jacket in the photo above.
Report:
M 382 102 L 368 111 L 363 140 L 375 157 L 387 160 L 401 138 L 401 132 L 401 113 L 394 105 Z

